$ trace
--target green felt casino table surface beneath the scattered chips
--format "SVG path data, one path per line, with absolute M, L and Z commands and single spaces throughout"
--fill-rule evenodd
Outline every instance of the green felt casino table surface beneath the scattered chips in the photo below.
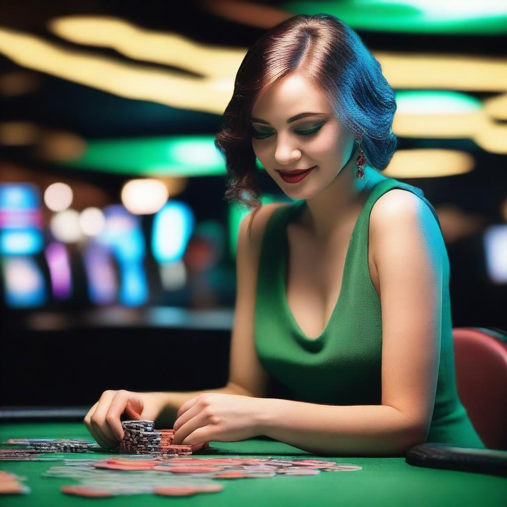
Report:
M 89 439 L 82 422 L 21 422 L 0 424 L 0 442 L 10 438 Z M 241 442 L 210 442 L 218 449 L 213 456 L 248 456 L 266 458 L 313 458 L 363 467 L 353 472 L 322 472 L 314 476 L 272 477 L 250 479 L 214 479 L 224 484 L 218 493 L 200 493 L 188 497 L 163 497 L 154 494 L 116 496 L 111 498 L 82 498 L 60 492 L 62 485 L 77 484 L 71 479 L 44 478 L 41 474 L 61 461 L 0 461 L 0 469 L 27 478 L 23 483 L 31 489 L 28 494 L 0 495 L 5 506 L 58 507 L 97 502 L 111 507 L 129 505 L 187 505 L 197 507 L 220 505 L 241 507 L 333 505 L 354 507 L 427 506 L 505 507 L 507 479 L 473 472 L 412 466 L 404 457 L 329 457 L 316 456 L 268 437 Z M 197 455 L 197 453 L 196 453 Z M 50 456 L 50 454 L 48 454 Z M 83 454 L 67 454 L 69 458 Z M 108 454 L 87 453 L 97 459 Z M 111 455 L 113 456 L 113 455 Z M 117 456 L 115 454 L 114 456 Z M 128 473 L 128 472 L 127 472 Z

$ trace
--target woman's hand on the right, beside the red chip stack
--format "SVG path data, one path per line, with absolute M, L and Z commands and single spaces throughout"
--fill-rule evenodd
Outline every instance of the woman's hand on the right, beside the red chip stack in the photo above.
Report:
M 237 442 L 262 434 L 266 400 L 252 396 L 205 392 L 184 403 L 173 428 L 175 445 Z

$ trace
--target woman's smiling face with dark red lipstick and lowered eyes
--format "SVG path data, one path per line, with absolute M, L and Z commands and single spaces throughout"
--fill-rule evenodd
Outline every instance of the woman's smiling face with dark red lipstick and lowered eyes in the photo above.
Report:
M 318 114 L 302 117 L 302 113 Z M 298 73 L 261 92 L 253 104 L 251 132 L 257 158 L 294 199 L 308 199 L 327 188 L 354 146 L 354 135 L 335 117 L 325 95 Z M 311 167 L 302 179 L 289 176 L 284 180 L 279 172 Z

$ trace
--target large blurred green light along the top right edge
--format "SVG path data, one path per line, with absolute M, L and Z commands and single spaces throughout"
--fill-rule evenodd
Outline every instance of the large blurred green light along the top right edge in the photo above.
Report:
M 328 13 L 354 30 L 407 33 L 507 33 L 507 4 L 498 0 L 342 0 L 285 2 L 289 12 Z

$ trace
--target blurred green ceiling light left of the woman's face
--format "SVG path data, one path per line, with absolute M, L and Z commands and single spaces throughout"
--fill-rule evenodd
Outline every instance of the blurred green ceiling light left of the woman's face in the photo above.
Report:
M 225 174 L 225 161 L 212 135 L 87 141 L 81 158 L 60 165 L 139 176 Z

